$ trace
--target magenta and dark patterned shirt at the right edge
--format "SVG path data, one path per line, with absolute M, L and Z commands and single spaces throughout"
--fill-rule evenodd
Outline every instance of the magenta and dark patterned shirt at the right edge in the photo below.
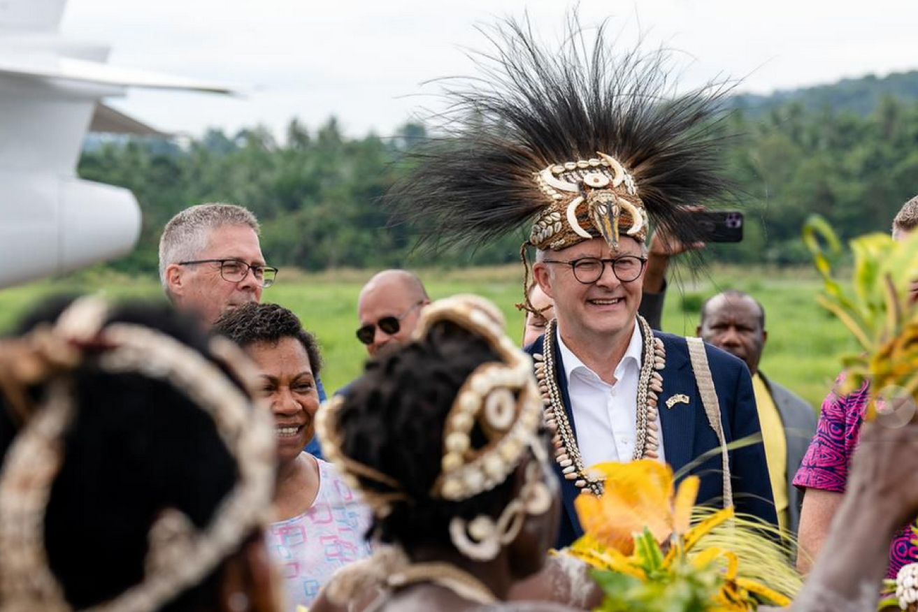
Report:
M 844 380 L 845 373 L 839 374 L 835 388 Z M 848 465 L 857 447 L 869 397 L 868 383 L 848 395 L 836 395 L 834 389 L 826 395 L 816 435 L 800 463 L 794 484 L 800 488 L 845 493 Z M 911 526 L 896 534 L 890 545 L 888 578 L 895 578 L 902 565 L 918 562 L 918 546 L 912 543 L 914 539 Z

